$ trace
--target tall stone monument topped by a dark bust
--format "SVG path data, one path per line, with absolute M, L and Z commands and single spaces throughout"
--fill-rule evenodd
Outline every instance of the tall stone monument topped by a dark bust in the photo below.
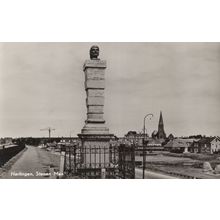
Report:
M 103 117 L 106 61 L 98 57 L 99 47 L 92 46 L 90 60 L 86 60 L 83 66 L 87 119 L 78 136 L 81 139 L 82 151 L 85 152 L 83 156 L 85 167 L 100 167 L 100 172 L 101 169 L 103 172 L 105 166 L 110 166 L 107 152 L 109 152 L 110 139 L 113 135 L 109 134 Z

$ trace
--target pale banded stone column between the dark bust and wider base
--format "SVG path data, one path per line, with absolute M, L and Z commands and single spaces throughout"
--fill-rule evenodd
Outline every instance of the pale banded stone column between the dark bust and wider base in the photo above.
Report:
M 103 119 L 105 69 L 104 60 L 86 60 L 84 64 L 87 119 L 82 134 L 109 133 Z

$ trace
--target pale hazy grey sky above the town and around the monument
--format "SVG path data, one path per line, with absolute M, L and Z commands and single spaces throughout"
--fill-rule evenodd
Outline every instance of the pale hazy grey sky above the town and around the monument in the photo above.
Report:
M 220 43 L 0 43 L 0 137 L 76 136 L 86 120 L 83 64 L 96 44 L 110 133 L 220 135 Z

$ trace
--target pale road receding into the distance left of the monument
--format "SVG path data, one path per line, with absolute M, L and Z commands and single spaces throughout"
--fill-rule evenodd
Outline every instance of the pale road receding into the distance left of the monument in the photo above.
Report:
M 60 157 L 38 147 L 27 146 L 27 150 L 12 165 L 2 178 L 41 179 L 49 178 L 51 170 L 58 171 Z M 51 169 L 52 168 L 52 169 Z

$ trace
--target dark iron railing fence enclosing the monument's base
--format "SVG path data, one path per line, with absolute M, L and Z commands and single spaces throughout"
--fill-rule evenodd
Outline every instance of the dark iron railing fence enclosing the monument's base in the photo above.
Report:
M 64 173 L 67 178 L 134 179 L 135 147 L 125 144 L 106 148 L 68 144 L 65 148 Z

